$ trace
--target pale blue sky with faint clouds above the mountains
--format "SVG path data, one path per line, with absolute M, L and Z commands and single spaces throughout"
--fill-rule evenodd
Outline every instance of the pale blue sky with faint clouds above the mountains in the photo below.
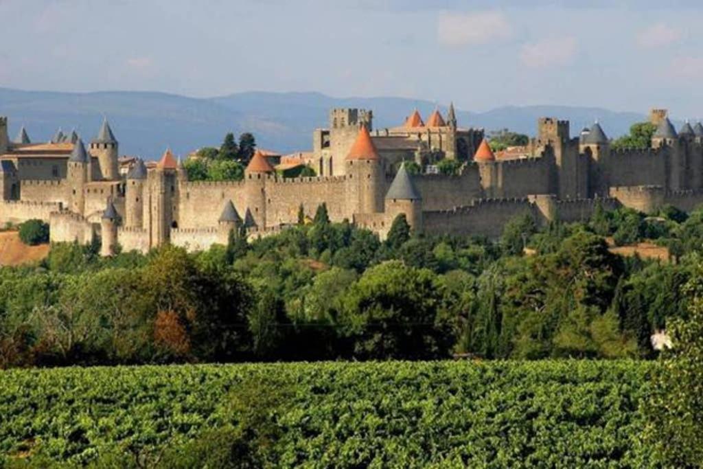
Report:
M 703 1 L 0 0 L 0 86 L 703 117 Z

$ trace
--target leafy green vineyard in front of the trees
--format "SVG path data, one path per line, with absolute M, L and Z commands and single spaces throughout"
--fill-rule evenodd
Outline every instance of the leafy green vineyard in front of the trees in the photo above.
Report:
M 0 466 L 195 439 L 252 377 L 290 390 L 281 467 L 642 468 L 645 361 L 324 362 L 0 371 Z M 4 455 L 4 456 L 3 456 Z M 3 461 L 3 458 L 6 458 Z

